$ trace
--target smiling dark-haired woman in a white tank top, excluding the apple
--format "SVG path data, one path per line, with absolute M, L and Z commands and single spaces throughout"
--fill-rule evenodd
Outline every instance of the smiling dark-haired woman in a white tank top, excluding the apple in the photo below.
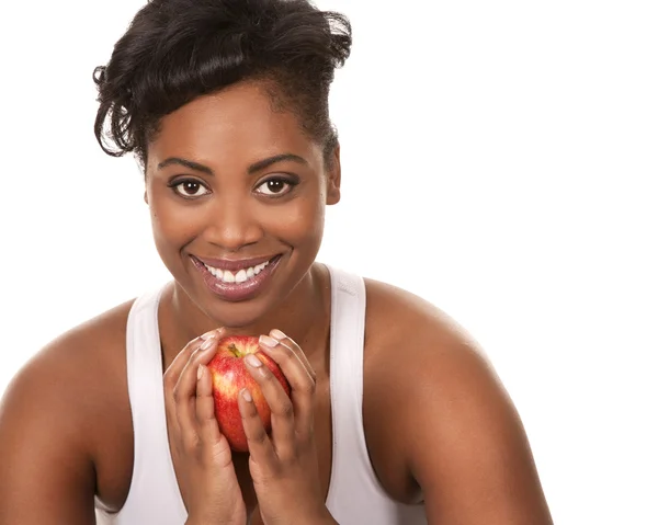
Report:
M 340 198 L 329 85 L 350 47 L 347 19 L 306 0 L 154 0 L 136 15 L 97 69 L 95 133 L 139 159 L 173 281 L 16 376 L 0 523 L 551 523 L 473 342 L 422 299 L 316 262 Z M 249 454 L 214 415 L 206 365 L 226 334 L 260 335 L 292 386 L 249 365 L 273 425 L 241 391 Z

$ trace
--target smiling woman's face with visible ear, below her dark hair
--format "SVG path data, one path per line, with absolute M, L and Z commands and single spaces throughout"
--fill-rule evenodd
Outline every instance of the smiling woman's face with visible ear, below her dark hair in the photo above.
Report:
M 178 286 L 227 327 L 281 305 L 340 198 L 338 151 L 326 167 L 297 118 L 245 82 L 166 116 L 147 158 L 156 247 Z

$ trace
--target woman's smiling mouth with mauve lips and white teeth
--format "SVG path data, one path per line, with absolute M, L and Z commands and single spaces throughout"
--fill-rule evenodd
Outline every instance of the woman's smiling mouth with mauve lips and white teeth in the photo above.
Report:
M 229 301 L 251 299 L 268 285 L 282 255 L 240 261 L 191 256 L 206 287 Z M 208 263 L 213 264 L 208 264 Z

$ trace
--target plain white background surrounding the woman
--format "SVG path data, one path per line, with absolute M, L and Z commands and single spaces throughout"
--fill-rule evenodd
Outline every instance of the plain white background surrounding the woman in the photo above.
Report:
M 47 341 L 168 278 L 135 162 L 92 133 L 92 69 L 140 5 L 2 4 L 0 392 Z M 320 7 L 354 25 L 320 260 L 479 341 L 556 523 L 657 524 L 657 4 Z

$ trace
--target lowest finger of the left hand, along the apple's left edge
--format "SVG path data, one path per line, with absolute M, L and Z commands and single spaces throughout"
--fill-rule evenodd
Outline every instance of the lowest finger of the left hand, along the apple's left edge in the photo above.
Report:
M 215 418 L 213 378 L 204 365 L 198 365 L 196 379 L 195 415 L 198 437 L 204 452 L 211 456 L 207 459 L 218 460 L 220 466 L 227 467 L 231 463 L 230 446 L 226 437 L 219 432 L 219 425 Z

